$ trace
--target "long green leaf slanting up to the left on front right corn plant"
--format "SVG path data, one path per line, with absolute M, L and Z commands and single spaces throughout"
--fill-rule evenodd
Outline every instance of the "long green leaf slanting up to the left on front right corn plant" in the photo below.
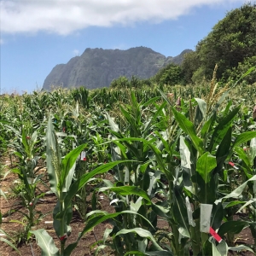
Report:
M 203 142 L 201 138 L 196 136 L 193 123 L 190 122 L 189 119 L 186 119 L 186 117 L 182 113 L 177 112 L 175 108 L 172 108 L 172 112 L 178 125 L 191 138 L 193 146 L 198 150 L 200 154 L 203 154 Z

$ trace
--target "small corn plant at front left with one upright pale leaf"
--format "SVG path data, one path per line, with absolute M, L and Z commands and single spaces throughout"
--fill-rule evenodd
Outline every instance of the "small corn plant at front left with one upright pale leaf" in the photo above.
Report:
M 96 224 L 100 224 L 102 221 L 112 218 L 112 216 L 107 216 L 107 218 L 98 218 L 98 216 L 97 218 L 91 218 L 85 224 L 84 230 L 79 234 L 77 241 L 65 247 L 67 238 L 72 231 L 70 222 L 73 215 L 72 201 L 74 196 L 84 187 L 84 184 L 90 181 L 90 178 L 97 174 L 108 172 L 113 166 L 122 163 L 122 161 L 117 161 L 100 166 L 89 173 L 85 173 L 79 180 L 73 182 L 76 160 L 85 146 L 86 144 L 82 144 L 78 148 L 74 148 L 62 159 L 58 138 L 53 128 L 52 119 L 49 117 L 46 133 L 47 171 L 49 174 L 50 189 L 55 193 L 57 198 L 57 204 L 53 211 L 53 226 L 56 235 L 60 239 L 61 246 L 60 248 L 55 246 L 52 237 L 49 236 L 46 230 L 31 230 L 30 232 L 36 236 L 38 245 L 42 249 L 42 255 L 71 255 L 73 249 L 87 231 L 93 229 Z

